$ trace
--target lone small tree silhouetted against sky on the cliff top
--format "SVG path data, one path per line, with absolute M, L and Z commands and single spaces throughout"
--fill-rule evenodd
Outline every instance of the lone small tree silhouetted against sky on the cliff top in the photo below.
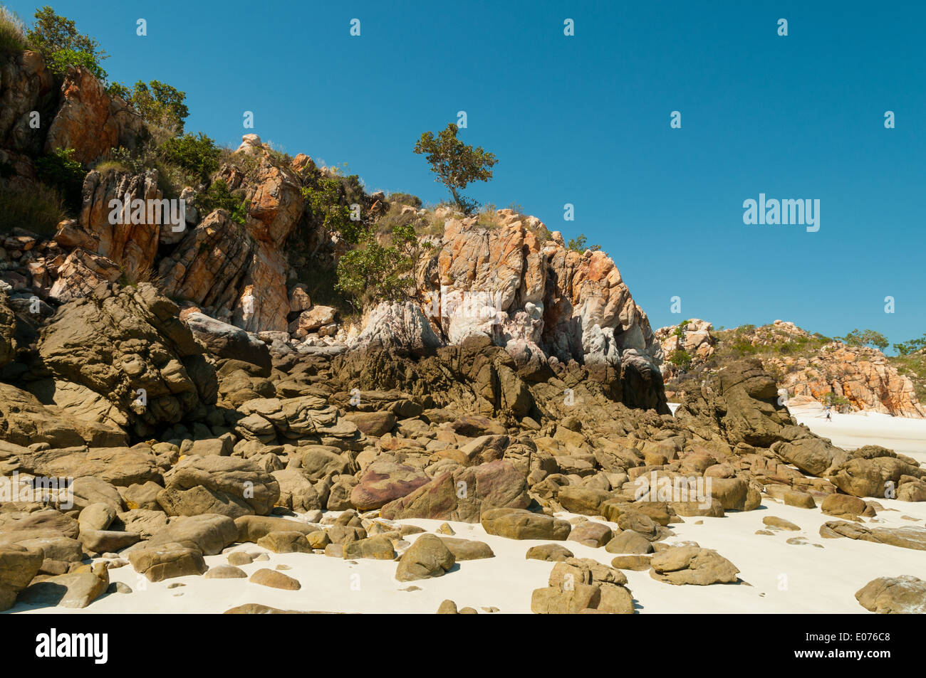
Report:
M 473 181 L 492 179 L 492 167 L 498 161 L 494 154 L 486 153 L 482 146 L 473 148 L 457 139 L 457 125 L 449 123 L 435 137 L 425 132 L 415 144 L 415 153 L 425 154 L 431 170 L 450 191 L 454 203 L 465 213 L 471 213 L 478 203 L 460 195 Z

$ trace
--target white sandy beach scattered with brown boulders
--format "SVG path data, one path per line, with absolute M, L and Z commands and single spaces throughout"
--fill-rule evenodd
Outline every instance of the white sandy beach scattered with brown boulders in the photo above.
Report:
M 898 420 L 886 415 L 834 415 L 832 422 L 812 412 L 795 413 L 820 435 L 837 445 L 854 448 L 875 443 L 916 455 L 926 455 L 926 422 Z M 884 511 L 866 524 L 900 527 L 926 523 L 926 502 L 879 499 Z M 765 516 L 784 518 L 800 532 L 757 535 Z M 559 517 L 570 518 L 571 514 Z M 594 519 L 598 520 L 598 519 Z M 652 612 L 837 612 L 868 613 L 855 599 L 856 591 L 872 579 L 926 572 L 926 553 L 912 549 L 854 541 L 823 539 L 820 525 L 831 516 L 820 509 L 799 509 L 763 497 L 761 509 L 728 512 L 724 518 L 683 519 L 672 524 L 675 536 L 667 543 L 696 541 L 716 549 L 740 569 L 748 585 L 672 586 L 652 579 L 648 572 L 625 571 L 637 610 Z M 407 520 L 433 531 L 442 521 Z M 445 598 L 462 608 L 494 607 L 499 612 L 531 611 L 534 588 L 546 586 L 552 562 L 528 561 L 525 553 L 543 541 L 518 541 L 487 535 L 480 524 L 450 523 L 457 537 L 486 542 L 495 557 L 463 561 L 443 577 L 413 583 L 394 579 L 394 561 L 343 561 L 319 554 L 275 554 L 255 544 L 239 544 L 224 554 L 206 557 L 211 567 L 227 562 L 232 550 L 267 552 L 269 561 L 242 566 L 250 575 L 261 568 L 286 565 L 284 573 L 299 580 L 298 591 L 252 584 L 246 579 L 206 579 L 184 576 L 153 584 L 130 565 L 110 570 L 113 582 L 132 588 L 131 594 L 109 594 L 84 610 L 31 608 L 19 604 L 11 612 L 25 613 L 189 613 L 223 612 L 244 603 L 262 603 L 283 610 L 339 612 L 423 612 L 437 610 Z M 612 527 L 616 525 L 611 524 Z M 409 536 L 413 541 L 419 535 Z M 800 543 L 788 543 L 795 541 Z M 560 542 L 577 556 L 610 564 L 613 555 L 576 542 Z M 177 586 L 183 585 L 183 586 Z M 174 586 L 171 588 L 170 586 Z

